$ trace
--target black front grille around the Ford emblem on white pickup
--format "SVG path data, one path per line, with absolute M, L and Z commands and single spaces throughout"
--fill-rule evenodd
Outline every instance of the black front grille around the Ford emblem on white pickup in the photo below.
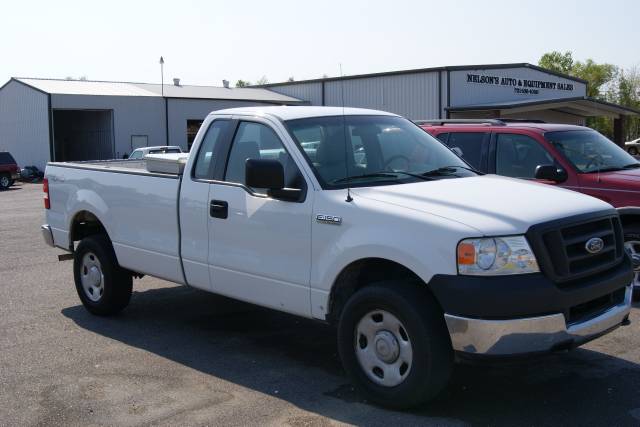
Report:
M 610 269 L 624 257 L 622 227 L 615 211 L 538 224 L 529 229 L 527 238 L 540 268 L 559 286 Z M 604 243 L 596 253 L 587 251 L 587 242 L 593 238 Z

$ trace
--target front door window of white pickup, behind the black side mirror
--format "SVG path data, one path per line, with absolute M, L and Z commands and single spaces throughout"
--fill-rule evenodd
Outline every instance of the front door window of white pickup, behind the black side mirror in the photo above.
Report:
M 284 185 L 302 189 L 304 179 L 278 135 L 262 123 L 241 122 L 231 145 L 225 181 L 245 184 L 245 164 L 248 159 L 273 159 L 282 163 Z M 253 189 L 264 194 L 265 191 Z

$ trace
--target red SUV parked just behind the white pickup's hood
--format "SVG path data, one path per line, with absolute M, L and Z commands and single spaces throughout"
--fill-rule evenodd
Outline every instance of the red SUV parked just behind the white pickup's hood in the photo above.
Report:
M 535 179 L 613 205 L 634 262 L 634 286 L 640 288 L 640 163 L 622 148 L 582 126 L 519 120 L 417 123 L 481 172 Z

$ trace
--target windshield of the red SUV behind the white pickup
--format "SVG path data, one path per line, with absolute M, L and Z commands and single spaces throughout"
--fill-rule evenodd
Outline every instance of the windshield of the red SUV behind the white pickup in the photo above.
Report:
M 547 132 L 544 136 L 581 173 L 618 171 L 640 167 L 622 148 L 592 130 Z

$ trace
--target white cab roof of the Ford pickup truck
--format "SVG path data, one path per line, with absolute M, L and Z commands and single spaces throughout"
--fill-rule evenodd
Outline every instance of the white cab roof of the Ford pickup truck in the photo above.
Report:
M 214 111 L 214 115 L 251 115 L 274 116 L 280 120 L 307 119 L 311 117 L 327 116 L 397 116 L 379 110 L 351 107 L 316 107 L 316 106 L 274 106 L 274 107 L 240 107 Z

